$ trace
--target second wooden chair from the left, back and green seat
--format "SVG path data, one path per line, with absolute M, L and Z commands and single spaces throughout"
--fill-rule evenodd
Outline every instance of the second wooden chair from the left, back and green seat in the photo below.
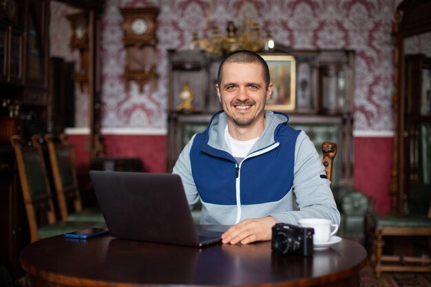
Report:
M 83 209 L 75 169 L 74 147 L 61 134 L 56 141 L 52 134 L 45 135 L 51 163 L 52 177 L 62 221 L 105 222 L 97 207 Z

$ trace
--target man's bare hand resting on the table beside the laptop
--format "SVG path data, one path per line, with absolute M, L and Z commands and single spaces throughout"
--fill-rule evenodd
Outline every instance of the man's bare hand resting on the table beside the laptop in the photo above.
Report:
M 271 240 L 275 219 L 271 216 L 244 220 L 231 226 L 222 235 L 223 243 L 247 244 L 255 241 Z

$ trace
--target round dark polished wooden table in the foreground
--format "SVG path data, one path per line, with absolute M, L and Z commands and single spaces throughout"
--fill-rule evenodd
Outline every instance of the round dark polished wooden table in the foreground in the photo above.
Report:
M 271 242 L 191 248 L 59 235 L 25 247 L 32 286 L 359 286 L 360 244 L 342 240 L 313 256 L 271 252 Z

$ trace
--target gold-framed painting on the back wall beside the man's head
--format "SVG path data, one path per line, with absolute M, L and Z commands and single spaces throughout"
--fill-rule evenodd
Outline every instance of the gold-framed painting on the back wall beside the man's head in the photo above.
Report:
M 268 63 L 272 95 L 266 103 L 266 109 L 275 111 L 292 111 L 295 109 L 295 58 L 288 55 L 262 55 Z

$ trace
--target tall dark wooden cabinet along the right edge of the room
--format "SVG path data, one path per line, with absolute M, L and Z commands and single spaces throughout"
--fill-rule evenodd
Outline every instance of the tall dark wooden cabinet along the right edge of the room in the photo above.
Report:
M 412 200 L 428 204 L 431 184 L 431 1 L 404 0 L 392 25 L 394 46 L 394 154 L 391 209 L 403 214 Z

